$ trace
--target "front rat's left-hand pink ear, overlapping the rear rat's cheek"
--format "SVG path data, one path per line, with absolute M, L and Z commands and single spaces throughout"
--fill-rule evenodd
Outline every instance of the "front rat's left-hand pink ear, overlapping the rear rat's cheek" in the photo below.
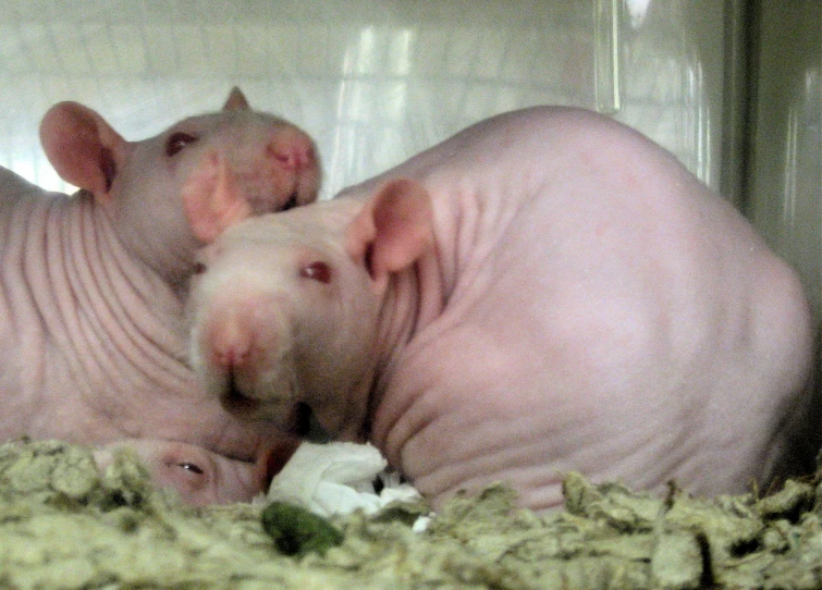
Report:
M 204 244 L 210 244 L 251 214 L 229 165 L 217 153 L 204 157 L 185 181 L 182 193 L 192 233 Z

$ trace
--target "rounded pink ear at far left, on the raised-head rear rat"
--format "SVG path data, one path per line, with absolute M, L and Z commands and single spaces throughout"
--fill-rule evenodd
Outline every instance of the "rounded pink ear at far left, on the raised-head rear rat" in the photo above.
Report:
M 49 109 L 40 123 L 40 143 L 63 180 L 98 199 L 108 196 L 131 146 L 102 116 L 77 102 Z

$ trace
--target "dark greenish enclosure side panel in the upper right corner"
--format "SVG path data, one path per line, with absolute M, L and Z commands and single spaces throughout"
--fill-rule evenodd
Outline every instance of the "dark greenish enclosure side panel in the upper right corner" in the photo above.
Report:
M 822 2 L 760 2 L 748 212 L 822 311 Z

